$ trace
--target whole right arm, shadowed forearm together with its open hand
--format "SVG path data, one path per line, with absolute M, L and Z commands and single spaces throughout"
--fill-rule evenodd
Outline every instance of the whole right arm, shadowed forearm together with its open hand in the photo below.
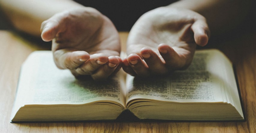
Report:
M 236 26 L 249 3 L 250 0 L 181 0 L 145 13 L 129 33 L 124 71 L 147 77 L 186 69 L 196 44 L 207 44 L 209 27 L 216 35 Z

